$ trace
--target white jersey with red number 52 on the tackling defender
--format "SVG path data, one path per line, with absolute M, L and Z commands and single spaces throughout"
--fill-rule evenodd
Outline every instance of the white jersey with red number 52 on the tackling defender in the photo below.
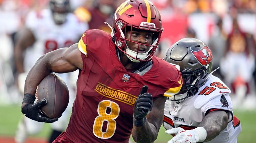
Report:
M 240 121 L 233 116 L 230 89 L 217 77 L 210 75 L 208 81 L 198 92 L 177 104 L 167 100 L 164 110 L 163 126 L 166 129 L 182 127 L 190 130 L 198 127 L 205 115 L 214 110 L 230 111 L 227 127 L 207 143 L 235 143 L 241 132 Z

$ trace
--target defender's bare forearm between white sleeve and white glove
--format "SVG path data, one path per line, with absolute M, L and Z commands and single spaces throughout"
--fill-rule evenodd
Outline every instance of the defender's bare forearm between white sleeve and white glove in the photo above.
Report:
M 227 127 L 228 114 L 225 111 L 213 111 L 209 113 L 199 124 L 205 128 L 207 136 L 205 141 L 210 141 Z

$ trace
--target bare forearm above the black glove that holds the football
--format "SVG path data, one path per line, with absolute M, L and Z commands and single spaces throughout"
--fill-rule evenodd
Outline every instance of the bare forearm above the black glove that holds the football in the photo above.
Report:
M 36 87 L 44 77 L 52 72 L 44 57 L 45 56 L 42 56 L 40 59 L 38 59 L 35 65 L 29 71 L 25 81 L 25 94 L 28 93 L 35 95 Z

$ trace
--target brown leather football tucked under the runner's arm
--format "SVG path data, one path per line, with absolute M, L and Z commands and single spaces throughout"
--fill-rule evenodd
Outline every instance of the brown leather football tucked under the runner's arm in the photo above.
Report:
M 69 102 L 69 91 L 66 83 L 55 74 L 46 76 L 36 90 L 36 100 L 46 99 L 47 104 L 40 108 L 49 118 L 60 117 Z

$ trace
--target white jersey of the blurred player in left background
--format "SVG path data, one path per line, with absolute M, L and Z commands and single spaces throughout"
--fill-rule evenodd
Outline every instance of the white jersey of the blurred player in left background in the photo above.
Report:
M 72 13 L 67 14 L 65 23 L 55 24 L 50 9 L 31 11 L 26 17 L 25 26 L 31 30 L 36 39 L 33 48 L 28 48 L 26 51 L 24 59 L 26 72 L 43 54 L 77 43 L 88 29 L 88 24 L 80 22 Z

